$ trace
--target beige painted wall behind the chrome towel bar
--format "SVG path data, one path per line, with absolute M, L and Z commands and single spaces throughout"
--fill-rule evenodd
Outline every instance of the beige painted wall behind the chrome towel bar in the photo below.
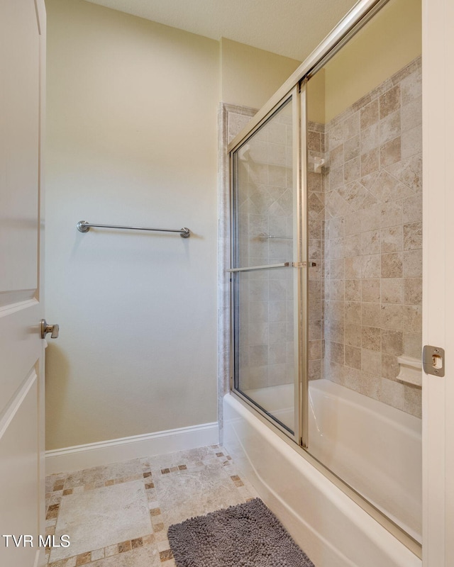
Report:
M 215 421 L 218 102 L 258 107 L 293 67 L 225 41 L 237 60 L 221 67 L 214 40 L 82 0 L 46 7 L 46 317 L 61 327 L 47 448 Z M 193 234 L 83 235 L 79 220 Z

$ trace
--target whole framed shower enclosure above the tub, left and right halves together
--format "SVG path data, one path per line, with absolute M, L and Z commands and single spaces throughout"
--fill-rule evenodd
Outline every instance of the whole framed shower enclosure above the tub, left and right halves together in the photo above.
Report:
M 420 13 L 379 4 L 230 147 L 233 378 L 420 554 Z

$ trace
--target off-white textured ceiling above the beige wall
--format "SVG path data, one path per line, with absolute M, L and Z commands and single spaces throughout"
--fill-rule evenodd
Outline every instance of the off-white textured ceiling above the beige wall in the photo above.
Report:
M 302 61 L 356 0 L 87 0 Z

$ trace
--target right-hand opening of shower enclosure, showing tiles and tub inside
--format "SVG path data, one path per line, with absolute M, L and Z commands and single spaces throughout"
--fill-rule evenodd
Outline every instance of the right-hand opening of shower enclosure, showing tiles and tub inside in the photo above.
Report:
M 307 82 L 309 253 L 324 270 L 309 271 L 304 411 L 309 453 L 421 542 L 422 391 L 405 367 L 422 342 L 421 7 L 410 4 L 389 0 Z

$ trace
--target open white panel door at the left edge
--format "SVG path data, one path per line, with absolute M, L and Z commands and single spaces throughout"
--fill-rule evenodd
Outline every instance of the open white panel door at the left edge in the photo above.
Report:
M 38 565 L 44 534 L 44 0 L 0 1 L 0 565 Z M 33 542 L 18 547 L 20 535 Z M 8 546 L 6 543 L 8 542 Z M 32 547 L 33 544 L 33 547 Z

